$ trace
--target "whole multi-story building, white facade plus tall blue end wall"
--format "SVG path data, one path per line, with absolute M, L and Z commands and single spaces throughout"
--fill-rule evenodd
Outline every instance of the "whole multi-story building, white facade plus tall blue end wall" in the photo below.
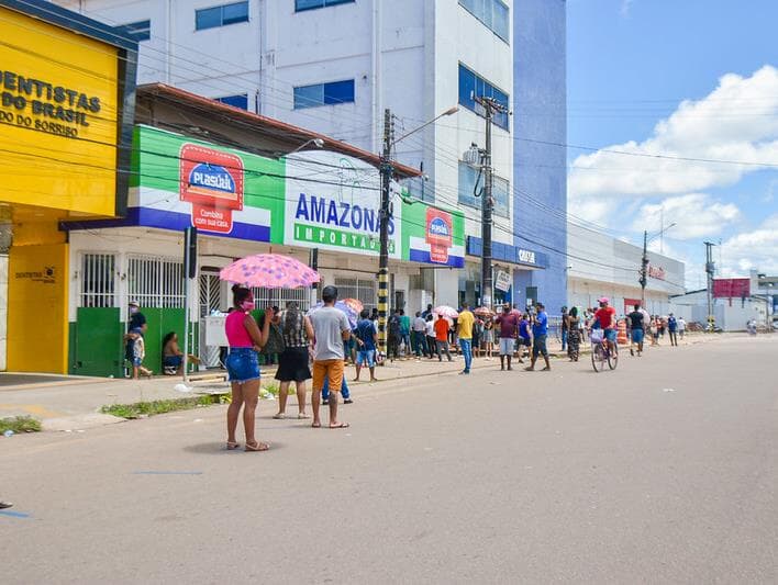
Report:
M 565 296 L 564 147 L 520 142 L 564 144 L 564 0 L 58 2 L 133 31 L 144 83 L 163 81 L 371 153 L 390 109 L 392 155 L 420 170 L 411 194 L 465 216 L 465 269 L 423 278 L 425 300 L 438 304 L 481 297 L 482 179 L 464 153 L 485 146 L 474 98 L 504 103 L 512 115 L 496 117 L 492 139 L 493 239 L 496 274 L 510 285 L 496 297 Z M 404 137 L 455 105 L 455 114 Z M 545 108 L 553 115 L 538 115 Z

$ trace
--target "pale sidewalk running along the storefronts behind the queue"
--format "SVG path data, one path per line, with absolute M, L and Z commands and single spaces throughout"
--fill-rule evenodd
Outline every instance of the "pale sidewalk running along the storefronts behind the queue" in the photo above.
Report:
M 745 335 L 745 334 L 743 334 Z M 710 342 L 719 339 L 729 339 L 734 335 L 687 335 L 681 347 L 696 345 L 699 342 Z M 669 349 L 669 340 L 665 339 L 660 347 Z M 657 348 L 646 345 L 646 352 L 649 355 Z M 557 340 L 549 342 L 549 350 L 556 359 L 565 359 Z M 623 348 L 622 350 L 625 350 Z M 589 344 L 581 344 L 581 353 L 590 351 Z M 588 358 L 587 358 L 588 359 Z M 492 361 L 485 358 L 474 360 L 473 369 L 497 368 L 500 360 L 494 356 Z M 370 383 L 369 371 L 363 370 L 363 381 L 351 382 L 355 375 L 353 365 L 346 368 L 349 386 L 359 392 L 364 387 L 387 387 L 400 380 L 436 375 L 441 373 L 458 372 L 463 369 L 463 359 L 456 358 L 453 362 L 445 359 L 438 362 L 436 359 L 429 360 L 422 358 L 398 360 L 387 362 L 384 367 L 376 368 L 378 382 Z M 223 372 L 214 371 L 214 374 Z M 265 369 L 263 371 L 263 386 L 277 384 L 274 380 L 275 370 Z M 30 381 L 31 383 L 21 383 Z M 226 393 L 229 384 L 223 380 L 200 380 L 190 383 L 191 392 L 180 392 L 176 386 L 182 383 L 180 378 L 158 376 L 152 380 L 114 380 L 104 378 L 82 378 L 62 375 L 0 375 L 0 418 L 19 415 L 30 415 L 43 421 L 46 430 L 68 430 L 77 428 L 88 428 L 90 426 L 104 425 L 122 421 L 109 415 L 99 414 L 104 405 L 127 404 L 143 401 L 181 398 L 186 396 L 208 393 Z M 310 384 L 310 382 L 309 382 Z M 309 386 L 310 387 L 310 386 Z

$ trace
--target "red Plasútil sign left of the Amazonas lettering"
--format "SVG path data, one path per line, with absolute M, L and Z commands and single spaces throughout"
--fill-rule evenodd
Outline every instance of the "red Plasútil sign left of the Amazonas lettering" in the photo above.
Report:
M 202 232 L 232 232 L 232 212 L 243 210 L 243 160 L 196 144 L 181 146 L 181 201 L 191 203 L 192 225 Z

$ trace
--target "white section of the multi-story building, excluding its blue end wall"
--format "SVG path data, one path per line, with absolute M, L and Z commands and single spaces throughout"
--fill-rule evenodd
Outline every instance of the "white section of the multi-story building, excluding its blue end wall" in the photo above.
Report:
M 373 153 L 380 150 L 386 109 L 401 138 L 458 105 L 453 115 L 398 140 L 394 156 L 423 172 L 412 193 L 464 210 L 466 234 L 473 236 L 466 270 L 436 270 L 425 279 L 435 283 L 435 301 L 479 300 L 478 171 L 462 159 L 471 144 L 485 145 L 474 95 L 513 104 L 520 58 L 514 30 L 532 26 L 529 19 L 518 22 L 514 0 L 56 1 L 134 31 L 141 41 L 138 83 L 163 81 Z M 553 3 L 546 14 L 535 0 L 525 2 L 542 13 L 545 29 L 557 23 L 564 38 L 564 0 Z M 548 31 L 540 29 L 516 34 L 543 43 Z M 556 32 L 551 36 L 558 37 Z M 563 67 L 555 70 L 564 75 L 564 47 L 559 55 Z M 507 114 L 494 122 L 494 259 L 518 282 L 520 272 L 542 268 L 526 258 L 544 255 L 516 246 L 513 124 Z M 564 187 L 564 179 L 557 183 Z

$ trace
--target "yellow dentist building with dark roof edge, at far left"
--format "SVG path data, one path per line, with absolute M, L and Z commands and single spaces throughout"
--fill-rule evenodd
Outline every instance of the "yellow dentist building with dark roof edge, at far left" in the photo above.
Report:
M 7 369 L 66 373 L 60 222 L 126 210 L 137 43 L 43 0 L 0 0 L 0 38 Z

